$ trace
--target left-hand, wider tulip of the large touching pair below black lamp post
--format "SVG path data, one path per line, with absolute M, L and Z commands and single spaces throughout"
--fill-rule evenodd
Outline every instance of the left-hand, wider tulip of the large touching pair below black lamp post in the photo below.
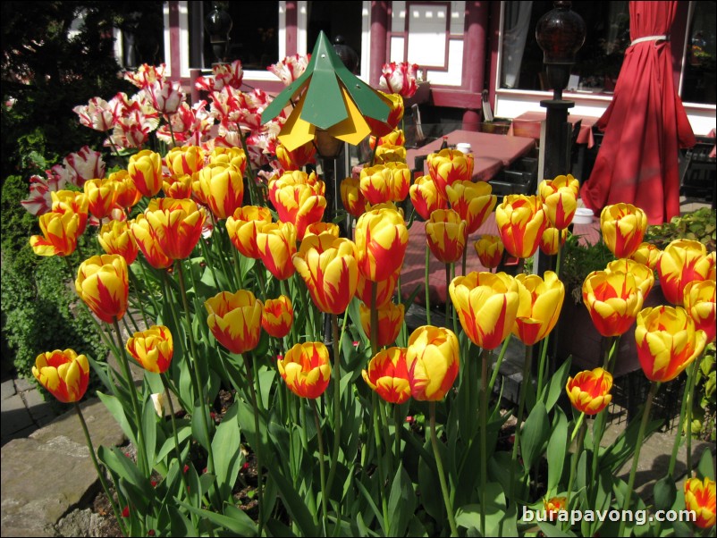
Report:
M 513 329 L 520 306 L 519 284 L 506 273 L 468 273 L 448 288 L 468 338 L 495 349 Z

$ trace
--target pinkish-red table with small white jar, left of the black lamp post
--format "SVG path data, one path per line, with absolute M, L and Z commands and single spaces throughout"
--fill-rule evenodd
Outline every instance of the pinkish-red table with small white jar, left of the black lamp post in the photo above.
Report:
M 468 143 L 473 151 L 473 181 L 488 181 L 503 168 L 507 168 L 520 157 L 536 147 L 533 139 L 525 137 L 507 137 L 472 130 L 453 130 L 445 135 L 449 146 Z M 428 156 L 440 151 L 443 139 L 436 139 L 426 146 L 409 149 L 406 162 L 411 166 L 416 157 Z M 421 171 L 418 171 L 419 173 Z M 423 174 L 428 173 L 428 164 L 424 163 Z M 423 175 L 421 174 L 421 175 Z

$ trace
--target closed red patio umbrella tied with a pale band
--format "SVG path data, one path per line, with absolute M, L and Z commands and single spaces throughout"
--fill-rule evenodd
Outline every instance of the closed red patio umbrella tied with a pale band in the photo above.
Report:
M 630 2 L 630 39 L 612 102 L 597 122 L 603 145 L 580 194 L 595 213 L 625 202 L 649 223 L 679 214 L 679 147 L 696 144 L 675 89 L 669 40 L 677 2 Z

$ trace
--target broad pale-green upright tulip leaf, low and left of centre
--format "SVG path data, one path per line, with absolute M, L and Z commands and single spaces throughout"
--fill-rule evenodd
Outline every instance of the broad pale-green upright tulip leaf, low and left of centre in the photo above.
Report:
M 216 428 L 212 440 L 216 483 L 222 499 L 229 499 L 232 494 L 232 487 L 243 463 L 241 450 L 239 450 L 241 433 L 237 410 L 238 404 L 235 402 L 224 415 L 222 424 Z

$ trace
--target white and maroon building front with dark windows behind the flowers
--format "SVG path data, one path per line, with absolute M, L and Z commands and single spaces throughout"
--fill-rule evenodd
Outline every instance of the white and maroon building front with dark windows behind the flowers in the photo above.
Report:
M 213 62 L 240 59 L 245 83 L 276 93 L 283 85 L 266 66 L 310 53 L 324 30 L 357 52 L 358 74 L 374 86 L 384 63 L 417 63 L 429 83 L 420 106 L 430 121 L 480 122 L 482 96 L 496 116 L 513 118 L 542 110 L 540 101 L 552 95 L 535 37 L 552 2 L 219 3 L 232 19 L 221 58 L 205 24 L 215 4 L 164 4 L 164 60 L 187 88 Z M 629 45 L 628 2 L 578 2 L 572 9 L 586 21 L 587 35 L 564 97 L 576 104 L 571 113 L 600 116 Z M 715 126 L 715 28 L 715 2 L 678 2 L 670 37 L 674 79 L 699 135 Z

